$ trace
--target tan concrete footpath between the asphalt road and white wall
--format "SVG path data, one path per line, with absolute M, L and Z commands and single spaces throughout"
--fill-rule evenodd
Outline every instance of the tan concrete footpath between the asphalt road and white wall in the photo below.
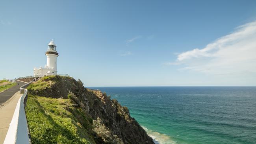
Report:
M 0 144 L 4 143 L 9 124 L 11 123 L 13 113 L 21 96 L 22 94 L 17 91 L 9 100 L 2 103 L 4 105 L 0 107 Z

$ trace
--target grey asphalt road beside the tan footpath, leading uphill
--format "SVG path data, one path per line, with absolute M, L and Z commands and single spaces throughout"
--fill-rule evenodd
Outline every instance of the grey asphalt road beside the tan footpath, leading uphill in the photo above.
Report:
M 7 102 L 7 100 L 9 100 L 17 91 L 19 91 L 19 89 L 22 85 L 26 84 L 21 81 L 16 81 L 16 82 L 19 83 L 19 85 L 17 84 L 15 86 L 5 90 L 4 92 L 0 92 L 0 109 L 1 109 L 1 107 L 3 107 L 5 105 L 5 102 Z

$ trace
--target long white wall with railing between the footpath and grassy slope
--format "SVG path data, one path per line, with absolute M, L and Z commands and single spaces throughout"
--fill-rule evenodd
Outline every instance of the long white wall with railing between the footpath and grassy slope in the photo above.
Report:
M 30 81 L 30 83 L 36 80 L 38 79 L 35 78 Z M 28 90 L 26 87 L 28 87 L 30 83 L 26 83 L 20 87 L 20 93 L 24 92 L 24 94 L 20 97 L 16 105 L 13 118 L 4 140 L 4 144 L 31 144 L 30 132 L 25 111 L 28 99 Z

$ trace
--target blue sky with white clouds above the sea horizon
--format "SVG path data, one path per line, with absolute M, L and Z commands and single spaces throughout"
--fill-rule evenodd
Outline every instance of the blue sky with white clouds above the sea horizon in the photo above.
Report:
M 255 0 L 0 1 L 0 79 L 58 74 L 100 86 L 255 86 Z

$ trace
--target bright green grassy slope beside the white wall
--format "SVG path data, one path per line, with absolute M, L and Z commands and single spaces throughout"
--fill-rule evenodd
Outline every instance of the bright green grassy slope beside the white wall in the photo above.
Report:
M 95 144 L 93 120 L 69 99 L 29 94 L 26 114 L 33 144 Z

